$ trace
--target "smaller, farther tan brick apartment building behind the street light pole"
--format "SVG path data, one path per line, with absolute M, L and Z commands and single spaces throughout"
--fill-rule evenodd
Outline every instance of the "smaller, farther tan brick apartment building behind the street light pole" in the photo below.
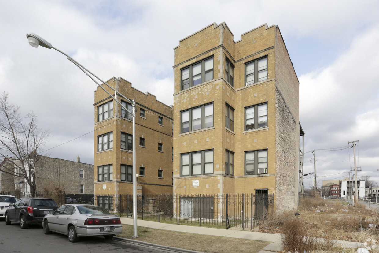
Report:
M 106 83 L 136 101 L 135 135 L 138 194 L 172 193 L 173 108 L 121 77 Z M 109 87 L 103 85 L 110 94 Z M 116 96 L 126 108 L 132 105 Z M 94 95 L 94 192 L 132 194 L 132 115 L 100 87 Z

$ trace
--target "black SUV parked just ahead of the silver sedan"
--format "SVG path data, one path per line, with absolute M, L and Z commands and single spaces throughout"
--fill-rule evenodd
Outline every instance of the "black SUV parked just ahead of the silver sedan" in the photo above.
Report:
M 52 214 L 58 205 L 50 198 L 20 198 L 14 204 L 9 204 L 5 211 L 5 224 L 19 222 L 22 229 L 28 224 L 41 224 L 46 214 Z

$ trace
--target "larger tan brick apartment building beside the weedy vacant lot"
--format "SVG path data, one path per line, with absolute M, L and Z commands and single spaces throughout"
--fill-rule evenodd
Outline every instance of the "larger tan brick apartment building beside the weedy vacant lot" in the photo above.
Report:
M 279 27 L 211 24 L 174 48 L 174 193 L 298 200 L 299 82 Z

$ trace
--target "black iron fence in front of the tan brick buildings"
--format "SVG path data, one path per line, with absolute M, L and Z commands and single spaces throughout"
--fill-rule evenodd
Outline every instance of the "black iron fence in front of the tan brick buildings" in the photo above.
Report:
M 119 216 L 133 217 L 132 195 L 95 195 L 94 203 Z M 273 210 L 273 194 L 137 196 L 139 219 L 183 225 L 252 229 Z

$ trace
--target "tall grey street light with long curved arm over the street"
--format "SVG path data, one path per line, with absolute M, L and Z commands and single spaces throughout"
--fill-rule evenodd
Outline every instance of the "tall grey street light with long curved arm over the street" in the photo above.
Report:
M 34 34 L 34 33 L 27 33 L 27 38 L 28 38 L 28 41 L 29 41 L 29 44 L 30 46 L 32 47 L 38 47 L 38 46 L 42 46 L 42 47 L 46 47 L 48 49 L 55 49 L 56 51 L 62 53 L 63 55 L 66 55 L 67 59 L 69 61 L 71 61 L 72 63 L 74 63 L 78 68 L 80 68 L 81 71 L 83 71 L 86 75 L 88 75 L 89 78 L 91 78 L 97 85 L 99 85 L 100 88 L 102 88 L 109 96 L 111 96 L 114 101 L 117 102 L 117 104 L 121 105 L 122 108 L 124 108 L 128 113 L 132 114 L 133 116 L 133 237 L 136 238 L 138 237 L 137 235 L 137 183 L 136 183 L 136 138 L 135 138 L 135 132 L 136 132 L 136 113 L 135 113 L 135 110 L 136 110 L 136 102 L 133 100 L 130 100 L 128 99 L 127 97 L 125 97 L 124 95 L 122 95 L 121 93 L 119 93 L 119 91 L 117 91 L 116 89 L 114 89 L 113 87 L 111 87 L 110 85 L 108 85 L 108 83 L 104 82 L 103 80 L 101 80 L 99 77 L 97 77 L 95 74 L 93 74 L 91 71 L 89 71 L 88 69 L 86 69 L 84 66 L 82 66 L 80 63 L 78 63 L 77 61 L 75 61 L 74 59 L 72 59 L 69 55 L 67 55 L 66 53 L 62 52 L 61 50 L 59 49 L 56 49 L 55 47 L 52 46 L 52 44 L 50 44 L 48 41 L 46 41 L 45 39 L 43 39 L 42 37 Z M 115 94 L 123 97 L 124 99 L 126 99 L 128 102 L 130 102 L 132 104 L 132 112 L 130 112 L 130 110 L 128 110 L 128 108 L 126 108 L 124 105 L 121 104 L 121 102 L 117 101 L 116 99 L 116 95 L 112 95 L 110 94 L 107 90 L 105 90 L 105 88 L 100 85 L 100 83 L 98 83 L 94 77 L 101 81 L 102 84 L 105 84 L 106 86 L 108 86 L 109 88 L 111 88 Z

